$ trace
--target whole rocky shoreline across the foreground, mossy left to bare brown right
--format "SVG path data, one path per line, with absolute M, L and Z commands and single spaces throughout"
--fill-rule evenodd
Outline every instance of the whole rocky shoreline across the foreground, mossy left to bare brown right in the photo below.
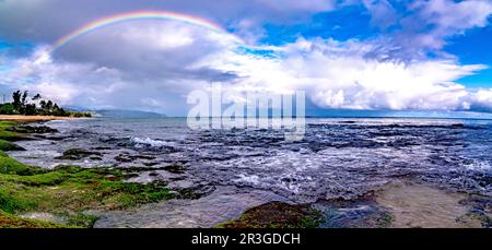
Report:
M 186 163 L 161 166 L 153 155 L 122 152 L 114 157 L 136 164 L 131 167 L 46 169 L 3 153 L 25 150 L 15 141 L 57 133 L 44 124 L 0 121 L 0 227 L 492 226 L 490 197 L 452 192 L 405 176 L 353 199 L 298 204 L 247 187 L 188 183 Z M 99 160 L 105 150 L 69 148 L 58 158 Z

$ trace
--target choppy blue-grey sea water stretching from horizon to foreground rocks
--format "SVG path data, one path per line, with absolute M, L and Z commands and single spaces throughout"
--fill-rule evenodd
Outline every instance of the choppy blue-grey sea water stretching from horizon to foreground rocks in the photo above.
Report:
M 491 121 L 307 119 L 306 123 L 304 140 L 288 142 L 282 131 L 273 130 L 192 131 L 180 118 L 49 121 L 46 124 L 59 133 L 20 142 L 27 151 L 12 155 L 43 167 L 177 163 L 187 168 L 183 178 L 188 186 L 253 188 L 296 202 L 351 199 L 398 177 L 492 195 Z M 73 147 L 103 157 L 55 159 Z M 120 154 L 150 157 L 127 163 L 115 159 Z

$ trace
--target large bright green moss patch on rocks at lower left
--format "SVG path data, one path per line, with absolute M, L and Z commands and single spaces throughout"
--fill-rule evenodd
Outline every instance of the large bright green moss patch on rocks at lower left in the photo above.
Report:
M 92 227 L 86 210 L 121 210 L 174 198 L 163 182 L 129 183 L 120 169 L 32 167 L 0 152 L 0 211 L 68 214 L 67 225 Z

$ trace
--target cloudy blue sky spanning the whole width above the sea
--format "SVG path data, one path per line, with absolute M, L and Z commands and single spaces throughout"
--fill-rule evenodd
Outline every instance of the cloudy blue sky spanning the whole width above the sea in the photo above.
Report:
M 143 20 L 50 50 L 80 26 L 140 10 L 230 34 Z M 238 92 L 302 90 L 319 110 L 491 111 L 491 14 L 490 0 L 0 0 L 0 91 L 186 115 L 188 92 L 221 82 Z

